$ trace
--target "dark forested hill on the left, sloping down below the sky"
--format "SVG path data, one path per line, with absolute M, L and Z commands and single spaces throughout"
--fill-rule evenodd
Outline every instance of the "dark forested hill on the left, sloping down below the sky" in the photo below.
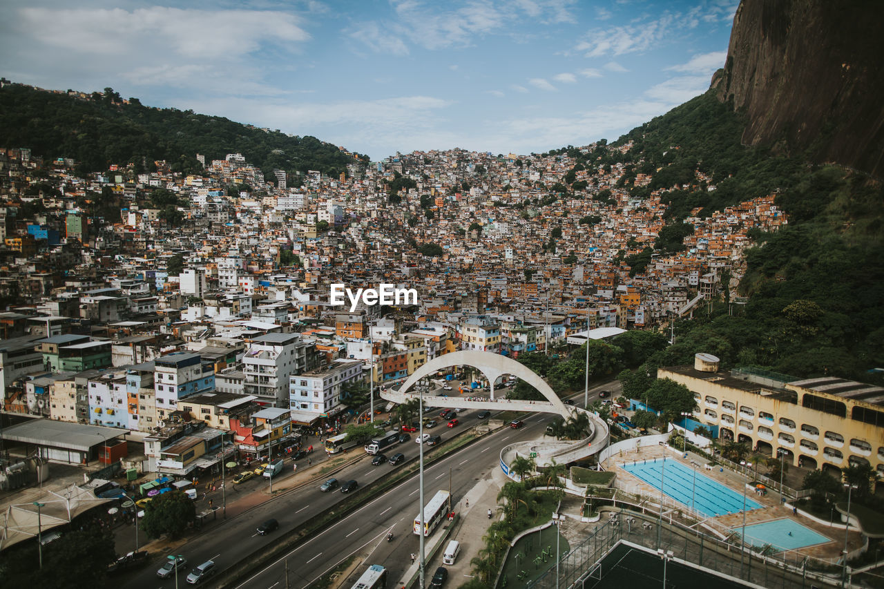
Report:
M 195 155 L 209 162 L 241 153 L 272 180 L 272 170 L 338 174 L 354 159 L 316 137 L 289 137 L 222 117 L 157 109 L 137 98 L 124 103 L 111 88 L 88 98 L 7 84 L 0 88 L 0 145 L 30 148 L 42 157 L 72 157 L 79 172 L 133 163 L 139 172 L 154 160 L 176 172 L 197 170 Z

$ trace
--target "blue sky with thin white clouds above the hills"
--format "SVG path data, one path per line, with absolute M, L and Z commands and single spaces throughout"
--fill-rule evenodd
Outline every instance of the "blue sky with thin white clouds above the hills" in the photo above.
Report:
M 613 141 L 709 88 L 736 0 L 7 0 L 0 75 L 397 151 Z

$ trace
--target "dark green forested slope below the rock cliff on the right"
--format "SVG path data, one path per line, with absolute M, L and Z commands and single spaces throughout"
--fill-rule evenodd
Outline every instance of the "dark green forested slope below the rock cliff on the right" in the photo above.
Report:
M 623 160 L 653 171 L 649 187 L 671 187 L 667 216 L 700 215 L 776 193 L 789 215 L 777 233 L 758 233 L 740 284 L 745 305 L 723 301 L 676 325 L 675 343 L 645 368 L 691 363 L 699 351 L 728 366 L 754 366 L 795 377 L 836 375 L 881 382 L 884 368 L 884 190 L 880 181 L 804 157 L 773 157 L 740 144 L 745 119 L 710 90 L 621 137 L 634 142 Z M 609 152 L 607 157 L 621 157 Z M 711 177 L 707 183 L 696 172 Z M 629 186 L 629 184 L 626 184 Z M 728 314 L 732 313 L 732 315 Z M 644 370 L 641 372 L 645 372 Z

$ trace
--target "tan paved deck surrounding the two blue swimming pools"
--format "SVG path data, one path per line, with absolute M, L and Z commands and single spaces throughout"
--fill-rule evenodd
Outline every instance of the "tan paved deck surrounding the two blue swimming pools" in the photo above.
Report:
M 602 463 L 602 467 L 605 470 L 612 470 L 616 472 L 617 479 L 615 482 L 615 486 L 623 489 L 624 491 L 628 491 L 629 493 L 637 492 L 646 497 L 656 498 L 659 497 L 659 489 L 648 485 L 641 479 L 631 475 L 629 471 L 622 468 L 622 465 L 626 463 L 632 463 L 634 461 L 662 458 L 664 455 L 666 456 L 667 460 L 676 460 L 687 466 L 688 468 L 691 468 L 691 462 L 699 463 L 702 465 L 709 463 L 709 461 L 703 456 L 695 455 L 690 452 L 688 453 L 687 459 L 685 459 L 683 457 L 683 453 L 674 452 L 672 448 L 667 448 L 663 446 L 652 446 L 643 447 L 638 452 L 636 452 L 635 450 L 629 450 L 621 452 L 621 454 L 619 455 L 613 455 L 608 458 L 604 463 Z M 712 478 L 714 481 L 724 486 L 728 486 L 731 489 L 734 489 L 738 493 L 743 493 L 743 484 L 745 482 L 745 478 L 731 472 L 730 470 L 725 469 L 723 472 L 721 472 L 720 467 L 713 467 L 713 470 L 702 469 L 697 471 L 703 474 L 705 477 Z M 790 517 L 791 519 L 794 519 L 797 523 L 802 524 L 805 527 L 810 528 L 814 532 L 822 534 L 823 536 L 831 539 L 831 541 L 824 542 L 822 544 L 817 544 L 810 547 L 796 548 L 795 550 L 790 551 L 791 553 L 812 556 L 813 558 L 819 559 L 840 558 L 842 549 L 844 547 L 843 528 L 830 528 L 827 525 L 818 524 L 812 519 L 806 517 L 793 516 L 791 513 L 791 509 L 785 508 L 781 505 L 780 495 L 778 493 L 771 492 L 766 493 L 763 496 L 758 496 L 757 493 L 747 491 L 747 498 L 751 498 L 753 501 L 760 503 L 762 507 L 760 509 L 752 509 L 746 512 L 746 525 L 760 524 L 761 522 L 766 522 L 772 519 L 780 519 L 784 516 Z M 716 525 L 716 527 L 730 528 L 735 530 L 736 532 L 739 532 L 740 528 L 743 526 L 743 512 L 711 517 L 709 519 L 715 524 L 718 524 Z M 848 532 L 848 551 L 853 551 L 858 547 L 861 547 L 862 545 L 862 535 L 859 532 Z

